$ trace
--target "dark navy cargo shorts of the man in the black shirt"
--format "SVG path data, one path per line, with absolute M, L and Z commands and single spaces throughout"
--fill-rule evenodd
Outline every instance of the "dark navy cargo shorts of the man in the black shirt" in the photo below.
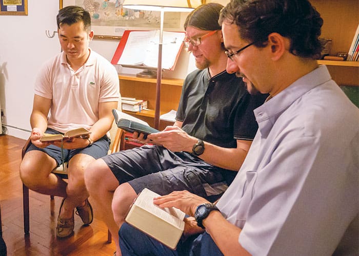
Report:
M 213 202 L 222 196 L 237 172 L 215 167 L 187 152 L 144 145 L 102 158 L 119 184 L 128 182 L 138 194 L 145 187 L 159 195 L 188 190 Z

